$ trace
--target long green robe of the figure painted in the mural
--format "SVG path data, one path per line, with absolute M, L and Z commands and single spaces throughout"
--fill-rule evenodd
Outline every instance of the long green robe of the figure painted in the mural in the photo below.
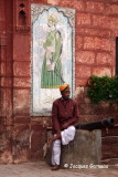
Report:
M 63 84 L 62 64 L 60 55 L 62 52 L 62 38 L 57 30 L 51 31 L 44 43 L 45 55 L 41 73 L 42 88 L 57 88 Z M 49 49 L 52 48 L 53 50 Z

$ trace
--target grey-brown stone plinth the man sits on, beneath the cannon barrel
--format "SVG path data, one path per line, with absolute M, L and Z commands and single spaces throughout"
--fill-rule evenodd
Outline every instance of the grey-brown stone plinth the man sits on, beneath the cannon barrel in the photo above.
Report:
M 47 128 L 47 138 L 52 137 L 52 129 Z M 50 148 L 46 163 L 51 165 Z M 74 140 L 62 145 L 61 167 L 71 168 L 73 165 L 99 165 L 101 158 L 101 131 L 77 129 Z

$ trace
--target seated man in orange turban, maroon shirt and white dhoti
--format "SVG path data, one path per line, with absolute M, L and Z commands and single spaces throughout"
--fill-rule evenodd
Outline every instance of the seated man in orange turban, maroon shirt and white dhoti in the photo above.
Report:
M 78 121 L 78 105 L 69 98 L 69 85 L 60 86 L 61 98 L 53 102 L 52 122 L 54 137 L 49 140 L 53 142 L 52 147 L 52 170 L 60 168 L 61 143 L 67 145 L 75 136 L 75 123 Z

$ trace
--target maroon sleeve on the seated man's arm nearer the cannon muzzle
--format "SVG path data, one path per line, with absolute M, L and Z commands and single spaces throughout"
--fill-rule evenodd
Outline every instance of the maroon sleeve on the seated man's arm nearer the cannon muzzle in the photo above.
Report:
M 78 104 L 74 102 L 74 111 L 73 111 L 73 117 L 68 121 L 68 124 L 74 124 L 78 122 L 79 118 L 79 110 L 78 110 Z

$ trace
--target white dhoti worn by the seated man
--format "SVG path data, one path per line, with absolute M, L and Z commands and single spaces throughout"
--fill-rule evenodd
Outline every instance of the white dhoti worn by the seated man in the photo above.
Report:
M 52 147 L 52 165 L 60 165 L 60 158 L 61 158 L 61 142 L 62 145 L 67 145 L 71 140 L 75 137 L 75 131 L 76 128 L 71 125 L 68 128 L 61 132 L 61 139 L 56 139 L 53 142 Z M 56 136 L 56 134 L 54 135 Z

